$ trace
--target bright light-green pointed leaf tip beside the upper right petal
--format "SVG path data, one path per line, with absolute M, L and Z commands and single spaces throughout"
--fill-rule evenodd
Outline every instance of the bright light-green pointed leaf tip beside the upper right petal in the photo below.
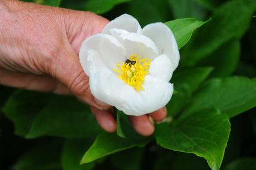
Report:
M 178 43 L 178 49 L 183 47 L 189 41 L 195 29 L 207 23 L 193 18 L 176 19 L 166 22 L 165 24 L 171 29 Z

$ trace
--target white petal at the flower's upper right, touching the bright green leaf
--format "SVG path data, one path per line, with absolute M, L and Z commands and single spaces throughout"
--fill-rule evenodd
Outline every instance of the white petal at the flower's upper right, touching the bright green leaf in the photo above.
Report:
M 142 35 L 154 41 L 160 54 L 165 54 L 171 59 L 174 70 L 178 66 L 180 53 L 178 52 L 177 42 L 171 29 L 163 23 L 151 23 L 142 29 Z

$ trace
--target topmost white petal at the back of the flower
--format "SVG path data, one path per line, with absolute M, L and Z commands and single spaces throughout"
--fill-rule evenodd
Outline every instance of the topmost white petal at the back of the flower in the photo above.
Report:
M 110 34 L 109 30 L 111 28 L 125 29 L 128 32 L 141 34 L 141 25 L 139 25 L 138 20 L 129 14 L 123 14 L 116 19 L 111 20 L 111 22 L 105 26 L 102 33 Z

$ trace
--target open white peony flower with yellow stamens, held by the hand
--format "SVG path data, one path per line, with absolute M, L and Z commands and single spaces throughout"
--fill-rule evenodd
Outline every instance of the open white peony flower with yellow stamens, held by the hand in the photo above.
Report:
M 139 116 L 169 102 L 173 93 L 169 80 L 180 55 L 165 24 L 151 23 L 142 29 L 134 17 L 123 14 L 101 34 L 88 37 L 79 58 L 96 99 Z

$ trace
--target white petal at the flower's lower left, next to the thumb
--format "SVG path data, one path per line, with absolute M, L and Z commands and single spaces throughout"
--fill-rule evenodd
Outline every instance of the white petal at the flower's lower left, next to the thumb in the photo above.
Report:
M 127 98 L 132 98 L 133 88 L 120 80 L 109 70 L 95 50 L 88 55 L 88 69 L 90 70 L 90 90 L 96 99 L 112 106 L 120 106 Z

